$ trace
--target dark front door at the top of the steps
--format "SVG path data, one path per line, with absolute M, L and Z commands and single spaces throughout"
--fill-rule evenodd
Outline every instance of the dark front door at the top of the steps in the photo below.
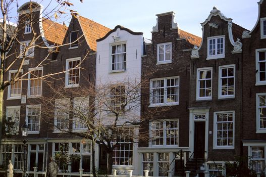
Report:
M 194 158 L 204 158 L 205 151 L 205 121 L 195 122 Z

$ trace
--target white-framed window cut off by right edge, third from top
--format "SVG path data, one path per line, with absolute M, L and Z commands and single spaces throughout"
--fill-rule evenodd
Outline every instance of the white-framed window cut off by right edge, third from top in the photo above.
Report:
M 266 132 L 266 93 L 256 94 L 257 133 Z

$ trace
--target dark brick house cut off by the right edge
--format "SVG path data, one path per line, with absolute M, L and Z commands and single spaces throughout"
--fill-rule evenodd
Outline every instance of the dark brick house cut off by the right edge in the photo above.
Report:
M 242 38 L 243 154 L 255 171 L 266 175 L 266 1 L 258 2 L 256 24 L 251 31 L 244 31 Z

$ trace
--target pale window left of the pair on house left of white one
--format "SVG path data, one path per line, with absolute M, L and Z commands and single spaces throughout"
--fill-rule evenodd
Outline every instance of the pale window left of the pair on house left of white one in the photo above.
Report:
M 69 126 L 70 99 L 56 99 L 55 101 L 55 128 L 67 130 Z

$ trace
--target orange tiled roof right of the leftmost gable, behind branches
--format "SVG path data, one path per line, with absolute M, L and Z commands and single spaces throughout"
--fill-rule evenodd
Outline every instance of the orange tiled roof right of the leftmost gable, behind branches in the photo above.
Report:
M 42 27 L 44 30 L 44 36 L 49 42 L 62 45 L 67 32 L 66 27 L 46 18 L 42 18 Z

